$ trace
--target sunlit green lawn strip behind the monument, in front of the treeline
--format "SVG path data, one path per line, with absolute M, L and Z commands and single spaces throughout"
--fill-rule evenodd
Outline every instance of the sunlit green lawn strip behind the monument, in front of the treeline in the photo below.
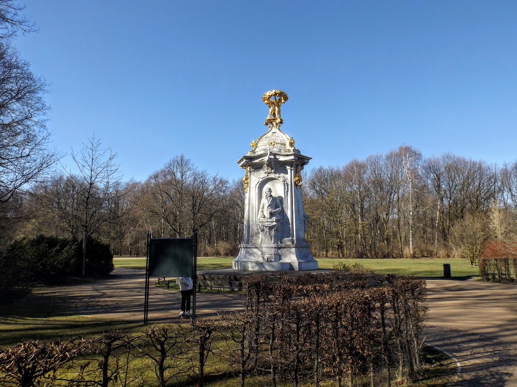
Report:
M 232 267 L 234 257 L 198 257 L 197 270 L 213 270 L 213 269 L 228 269 Z M 333 258 L 319 258 L 318 267 L 320 269 L 332 269 L 333 265 L 338 262 L 346 264 L 360 263 L 363 266 L 370 268 L 374 273 L 379 274 L 399 274 L 404 276 L 416 276 L 424 278 L 443 278 L 444 264 L 451 265 L 452 278 L 464 279 L 468 277 L 479 276 L 477 266 L 470 266 L 467 260 L 449 259 L 439 260 L 433 258 L 414 258 L 414 259 L 333 259 Z M 115 267 L 125 267 L 131 269 L 144 269 L 145 258 L 114 258 Z

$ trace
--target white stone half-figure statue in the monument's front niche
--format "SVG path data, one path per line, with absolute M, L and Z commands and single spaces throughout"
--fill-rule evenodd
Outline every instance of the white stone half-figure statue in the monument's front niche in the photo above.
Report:
M 280 198 L 273 196 L 271 187 L 264 189 L 257 216 L 257 231 L 260 233 L 261 244 L 278 244 L 282 240 L 282 204 Z

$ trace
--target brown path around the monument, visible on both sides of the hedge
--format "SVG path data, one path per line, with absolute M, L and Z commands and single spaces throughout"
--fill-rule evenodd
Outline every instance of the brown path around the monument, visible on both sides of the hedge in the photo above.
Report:
M 112 278 L 39 289 L 70 314 L 143 321 L 143 270 L 115 269 Z M 461 363 L 454 386 L 517 387 L 517 286 L 476 280 L 429 280 L 427 342 Z M 197 315 L 240 309 L 242 298 L 198 294 Z M 179 321 L 180 294 L 150 286 L 149 322 Z

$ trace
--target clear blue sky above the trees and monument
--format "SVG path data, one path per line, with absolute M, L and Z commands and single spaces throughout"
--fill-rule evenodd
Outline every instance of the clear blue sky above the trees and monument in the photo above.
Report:
M 13 45 L 51 86 L 63 152 L 94 134 L 143 181 L 181 153 L 241 178 L 284 90 L 282 130 L 340 166 L 401 144 L 517 160 L 515 1 L 31 0 Z M 65 159 L 69 165 L 69 160 Z

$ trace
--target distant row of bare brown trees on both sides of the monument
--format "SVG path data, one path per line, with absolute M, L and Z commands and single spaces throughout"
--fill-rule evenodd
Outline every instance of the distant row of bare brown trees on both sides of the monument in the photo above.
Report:
M 463 256 L 465 230 L 481 230 L 483 244 L 515 236 L 517 162 L 424 158 L 401 146 L 304 177 L 307 239 L 315 256 Z M 200 255 L 238 252 L 240 181 L 209 175 L 183 155 L 144 182 L 83 180 L 81 174 L 55 174 L 2 202 L 2 248 L 26 236 L 81 240 L 87 234 L 115 255 L 142 256 L 148 231 L 156 237 L 197 231 Z

